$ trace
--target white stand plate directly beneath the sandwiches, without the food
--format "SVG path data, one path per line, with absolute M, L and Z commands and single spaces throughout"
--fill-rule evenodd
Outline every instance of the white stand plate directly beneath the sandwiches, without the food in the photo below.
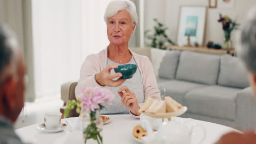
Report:
M 155 118 L 171 118 L 171 117 L 177 117 L 177 116 L 181 116 L 183 113 L 185 113 L 188 110 L 188 108 L 186 106 L 183 106 L 181 109 L 179 109 L 177 112 L 167 112 L 167 113 L 145 113 L 145 112 L 141 112 L 141 110 L 139 110 L 139 112 L 143 113 L 146 116 L 150 116 L 150 117 L 155 117 Z

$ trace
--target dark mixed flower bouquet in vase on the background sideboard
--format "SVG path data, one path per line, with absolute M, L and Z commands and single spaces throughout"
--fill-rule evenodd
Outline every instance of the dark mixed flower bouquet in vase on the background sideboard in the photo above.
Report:
M 222 29 L 224 31 L 224 44 L 226 45 L 226 48 L 230 48 L 229 47 L 229 41 L 231 41 L 231 32 L 234 29 L 237 29 L 237 27 L 239 26 L 238 23 L 236 23 L 236 21 L 233 21 L 230 19 L 229 16 L 225 15 L 223 16 L 222 14 L 219 14 L 219 20 L 218 22 L 222 23 Z

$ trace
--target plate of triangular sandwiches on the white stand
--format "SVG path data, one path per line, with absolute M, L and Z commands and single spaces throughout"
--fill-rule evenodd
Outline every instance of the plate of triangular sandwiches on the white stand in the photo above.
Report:
M 158 100 L 149 97 L 139 112 L 154 118 L 168 118 L 181 116 L 188 110 L 171 97 L 165 97 L 165 100 Z

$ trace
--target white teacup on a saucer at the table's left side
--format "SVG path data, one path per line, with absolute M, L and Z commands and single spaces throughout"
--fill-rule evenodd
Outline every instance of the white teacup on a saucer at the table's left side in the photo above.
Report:
M 46 112 L 44 113 L 44 124 L 48 129 L 56 129 L 61 126 L 60 112 Z

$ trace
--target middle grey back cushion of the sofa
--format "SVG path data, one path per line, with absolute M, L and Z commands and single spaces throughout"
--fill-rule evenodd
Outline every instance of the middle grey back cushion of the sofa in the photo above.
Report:
M 183 51 L 179 58 L 176 79 L 216 85 L 220 57 L 205 53 Z

